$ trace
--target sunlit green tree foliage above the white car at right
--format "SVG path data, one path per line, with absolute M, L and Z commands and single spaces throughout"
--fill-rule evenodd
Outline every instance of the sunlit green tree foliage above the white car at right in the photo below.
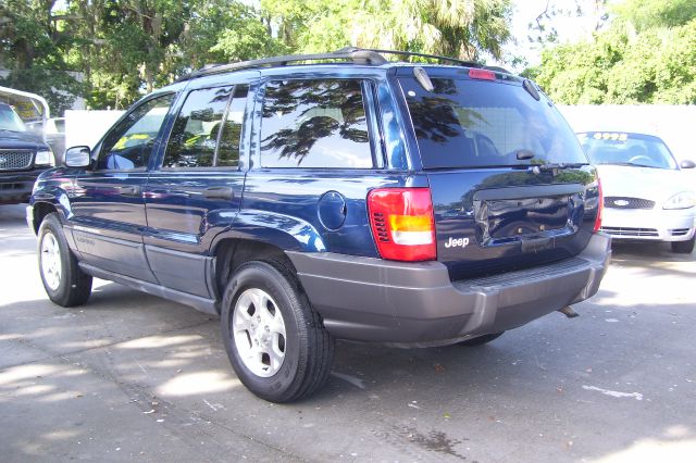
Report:
M 626 0 L 591 40 L 548 47 L 532 75 L 567 104 L 696 103 L 696 3 Z

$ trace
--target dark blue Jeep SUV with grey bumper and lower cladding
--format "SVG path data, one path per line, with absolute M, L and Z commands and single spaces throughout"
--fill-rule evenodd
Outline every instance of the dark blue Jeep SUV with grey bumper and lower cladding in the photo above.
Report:
M 385 54 L 208 67 L 69 149 L 27 210 L 50 299 L 99 277 L 220 314 L 275 402 L 325 383 L 336 338 L 471 346 L 574 315 L 610 240 L 566 121 L 502 70 Z

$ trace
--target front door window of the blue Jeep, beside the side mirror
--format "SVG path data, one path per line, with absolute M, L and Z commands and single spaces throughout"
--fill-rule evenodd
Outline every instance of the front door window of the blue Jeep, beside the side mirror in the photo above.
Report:
M 172 93 L 153 98 L 122 118 L 104 138 L 97 168 L 128 171 L 147 167 L 154 139 L 173 100 Z

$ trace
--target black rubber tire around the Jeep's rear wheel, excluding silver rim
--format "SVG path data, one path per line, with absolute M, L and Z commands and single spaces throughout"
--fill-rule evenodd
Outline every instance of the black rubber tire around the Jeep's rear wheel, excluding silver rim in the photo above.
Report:
M 238 302 L 239 310 L 244 311 L 240 297 L 259 289 L 271 297 L 271 310 L 279 310 L 285 327 L 282 342 L 284 360 L 270 377 L 256 374 L 245 364 L 250 362 L 248 358 L 251 355 L 243 360 L 232 328 Z M 247 312 L 253 311 L 253 323 L 256 309 L 253 304 L 247 306 Z M 320 315 L 311 308 L 293 272 L 283 263 L 253 261 L 241 265 L 225 288 L 221 318 L 222 337 L 229 362 L 239 380 L 261 399 L 276 403 L 297 401 L 314 393 L 328 379 L 334 359 L 334 339 L 324 328 Z M 237 335 L 241 339 L 239 342 L 248 340 L 253 350 L 251 328 L 237 333 L 244 333 Z M 266 354 L 263 353 L 261 358 L 263 355 Z M 269 374 L 273 370 L 269 370 Z

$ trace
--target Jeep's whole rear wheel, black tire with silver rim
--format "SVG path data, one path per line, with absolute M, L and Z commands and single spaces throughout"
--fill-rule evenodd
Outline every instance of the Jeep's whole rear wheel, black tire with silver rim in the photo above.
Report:
M 293 402 L 328 379 L 334 339 L 283 263 L 241 265 L 225 288 L 221 315 L 232 367 L 256 396 Z

